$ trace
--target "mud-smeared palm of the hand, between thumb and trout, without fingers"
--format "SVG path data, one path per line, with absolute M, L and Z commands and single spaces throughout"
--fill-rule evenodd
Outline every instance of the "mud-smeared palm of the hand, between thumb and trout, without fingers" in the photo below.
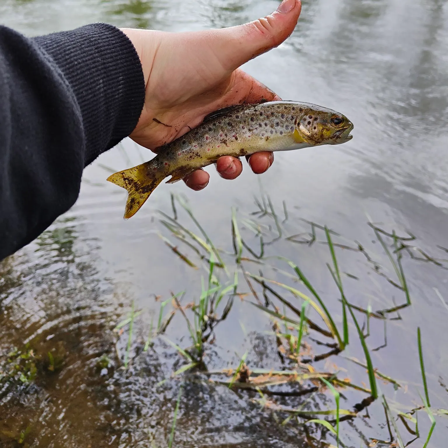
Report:
M 149 32 L 155 34 L 159 44 L 145 80 L 145 106 L 131 134 L 140 145 L 154 150 L 185 134 L 219 108 L 279 99 L 242 70 L 223 67 L 202 33 Z

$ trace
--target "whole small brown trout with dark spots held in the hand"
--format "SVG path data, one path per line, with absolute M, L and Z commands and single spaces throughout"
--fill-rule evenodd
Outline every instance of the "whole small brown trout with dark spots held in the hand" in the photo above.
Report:
M 128 190 L 124 218 L 133 216 L 165 177 L 180 181 L 223 155 L 290 151 L 348 142 L 353 124 L 342 114 L 315 104 L 271 101 L 212 112 L 197 127 L 158 148 L 148 162 L 116 172 L 108 181 Z

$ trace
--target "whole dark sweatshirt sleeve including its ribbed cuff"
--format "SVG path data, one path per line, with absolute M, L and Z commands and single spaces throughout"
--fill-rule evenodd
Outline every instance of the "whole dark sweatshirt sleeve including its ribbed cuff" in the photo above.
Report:
M 133 131 L 144 96 L 114 26 L 34 39 L 0 26 L 0 260 L 72 207 L 83 168 Z

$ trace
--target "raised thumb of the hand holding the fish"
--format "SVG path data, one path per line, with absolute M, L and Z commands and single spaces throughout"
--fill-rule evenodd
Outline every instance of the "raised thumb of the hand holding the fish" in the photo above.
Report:
M 277 47 L 293 32 L 302 9 L 300 0 L 283 0 L 267 17 L 215 30 L 216 57 L 233 71 L 255 56 Z

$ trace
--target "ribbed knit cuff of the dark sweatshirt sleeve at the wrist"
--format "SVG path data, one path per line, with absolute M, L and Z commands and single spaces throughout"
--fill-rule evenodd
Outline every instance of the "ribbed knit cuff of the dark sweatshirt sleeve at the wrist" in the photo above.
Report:
M 88 165 L 137 125 L 145 99 L 138 54 L 123 32 L 105 23 L 33 40 L 55 61 L 78 100 Z

